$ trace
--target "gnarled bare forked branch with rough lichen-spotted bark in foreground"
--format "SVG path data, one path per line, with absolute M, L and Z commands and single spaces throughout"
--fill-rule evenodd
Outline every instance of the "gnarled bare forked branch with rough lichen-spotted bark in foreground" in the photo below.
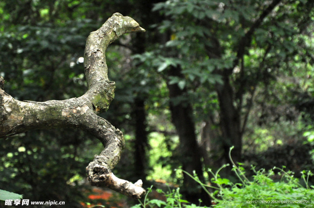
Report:
M 111 170 L 120 160 L 125 146 L 122 132 L 97 113 L 108 109 L 114 98 L 115 83 L 108 80 L 105 50 L 125 33 L 144 32 L 136 21 L 115 13 L 86 40 L 84 70 L 87 92 L 63 101 L 18 101 L 4 92 L 0 78 L 0 138 L 35 129 L 80 128 L 98 138 L 105 149 L 86 167 L 91 185 L 106 186 L 124 195 L 140 198 L 142 181 L 135 184 L 114 176 Z

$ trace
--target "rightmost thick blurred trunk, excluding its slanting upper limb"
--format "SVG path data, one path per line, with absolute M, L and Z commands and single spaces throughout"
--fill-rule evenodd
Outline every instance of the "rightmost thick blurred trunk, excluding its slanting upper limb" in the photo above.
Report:
M 221 58 L 221 46 L 217 38 L 212 38 L 211 46 L 205 46 L 207 55 L 210 58 Z M 231 151 L 233 161 L 241 159 L 242 149 L 242 133 L 241 133 L 241 106 L 236 107 L 235 92 L 230 84 L 231 69 L 217 70 L 216 73 L 222 76 L 222 83 L 216 83 L 215 91 L 218 96 L 219 104 L 219 127 L 220 137 L 219 142 L 215 145 L 216 149 L 212 148 L 214 155 L 218 156 L 215 167 L 219 168 L 221 165 L 229 163 L 229 150 Z M 240 96 L 243 96 L 241 94 Z M 215 141 L 211 143 L 214 144 Z M 231 166 L 229 166 L 231 167 Z M 229 169 L 229 168 L 228 168 Z M 230 169 L 229 169 L 230 170 Z

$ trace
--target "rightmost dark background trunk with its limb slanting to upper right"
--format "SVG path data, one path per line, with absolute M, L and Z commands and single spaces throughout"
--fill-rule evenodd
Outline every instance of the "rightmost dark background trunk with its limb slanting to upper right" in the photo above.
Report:
M 252 37 L 255 30 L 263 23 L 263 20 L 268 16 L 269 13 L 281 2 L 281 0 L 273 0 L 272 3 L 268 5 L 267 8 L 261 13 L 261 15 L 255 20 L 251 25 L 250 29 L 242 36 L 238 43 L 238 49 L 236 52 L 236 59 L 234 60 L 233 67 L 230 69 L 224 69 L 221 73 L 223 84 L 216 85 L 216 91 L 219 99 L 220 107 L 220 128 L 222 132 L 222 142 L 224 150 L 224 158 L 229 161 L 229 148 L 234 146 L 231 151 L 231 158 L 234 162 L 238 162 L 241 159 L 241 149 L 242 149 L 242 128 L 241 128 L 241 102 L 237 103 L 234 89 L 230 85 L 230 77 L 232 74 L 232 69 L 239 65 L 240 60 L 243 65 L 243 57 L 246 54 L 246 47 L 249 47 L 252 43 Z M 310 1 L 309 1 L 310 2 Z M 219 43 L 219 42 L 218 42 Z M 217 47 L 215 47 L 217 48 Z M 209 50 L 215 49 L 210 48 Z M 220 57 L 220 56 L 219 56 Z M 242 72 L 240 75 L 244 75 L 244 68 L 241 66 Z M 242 77 L 243 78 L 243 77 Z M 243 89 L 238 89 L 238 98 L 242 99 Z M 245 123 L 243 124 L 245 125 Z

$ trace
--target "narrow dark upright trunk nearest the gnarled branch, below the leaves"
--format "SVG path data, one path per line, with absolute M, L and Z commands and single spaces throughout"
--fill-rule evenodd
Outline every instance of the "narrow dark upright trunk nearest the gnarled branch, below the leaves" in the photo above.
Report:
M 135 116 L 135 174 L 142 179 L 146 178 L 146 147 L 147 147 L 147 132 L 146 132 L 146 112 L 144 109 L 145 100 L 137 96 L 134 100 L 134 116 Z

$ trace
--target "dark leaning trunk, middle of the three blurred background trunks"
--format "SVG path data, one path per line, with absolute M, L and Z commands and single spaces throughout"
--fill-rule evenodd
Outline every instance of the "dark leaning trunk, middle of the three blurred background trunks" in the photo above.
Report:
M 168 72 L 168 76 L 177 76 L 182 78 L 180 66 L 172 67 Z M 177 84 L 167 84 L 170 97 L 170 111 L 172 122 L 176 127 L 180 140 L 180 153 L 182 169 L 193 175 L 195 170 L 199 179 L 203 180 L 202 162 L 200 149 L 197 144 L 195 134 L 195 124 L 192 116 L 192 106 L 188 101 L 175 103 L 174 100 L 179 97 L 187 96 L 187 90 L 181 90 Z M 203 201 L 204 205 L 210 206 L 211 200 L 207 193 L 202 189 L 196 189 L 198 184 L 189 176 L 184 174 L 182 193 L 187 200 L 198 204 L 198 199 Z

